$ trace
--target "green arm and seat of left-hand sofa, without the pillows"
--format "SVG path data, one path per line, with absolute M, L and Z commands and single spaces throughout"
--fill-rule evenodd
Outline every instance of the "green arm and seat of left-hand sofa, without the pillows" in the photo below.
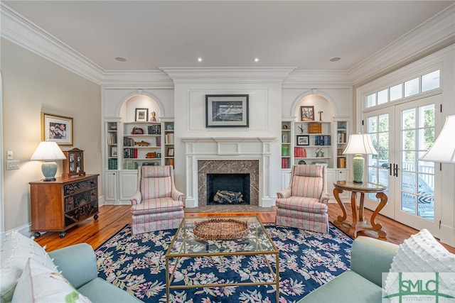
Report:
M 97 259 L 92 246 L 80 243 L 49 253 L 68 282 L 93 303 L 142 302 L 132 294 L 97 277 Z

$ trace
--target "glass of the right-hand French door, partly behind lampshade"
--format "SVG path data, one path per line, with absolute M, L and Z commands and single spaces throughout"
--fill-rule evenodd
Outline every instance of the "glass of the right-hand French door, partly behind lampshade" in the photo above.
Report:
M 401 209 L 434 220 L 434 162 L 418 157 L 434 141 L 434 104 L 402 111 Z

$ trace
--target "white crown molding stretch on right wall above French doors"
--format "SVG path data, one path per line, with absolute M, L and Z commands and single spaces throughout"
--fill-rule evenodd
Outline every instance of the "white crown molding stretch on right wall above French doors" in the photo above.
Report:
M 385 46 L 348 71 L 353 83 L 390 70 L 410 57 L 424 53 L 434 45 L 441 48 L 455 43 L 455 4 Z

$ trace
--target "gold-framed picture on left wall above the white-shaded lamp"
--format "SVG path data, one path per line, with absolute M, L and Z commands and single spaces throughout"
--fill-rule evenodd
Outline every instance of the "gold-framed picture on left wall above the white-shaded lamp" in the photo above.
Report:
M 73 145 L 73 118 L 41 113 L 41 141 Z

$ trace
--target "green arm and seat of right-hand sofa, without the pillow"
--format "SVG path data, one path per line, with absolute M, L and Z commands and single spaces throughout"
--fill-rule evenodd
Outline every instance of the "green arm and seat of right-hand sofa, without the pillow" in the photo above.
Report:
M 382 272 L 389 272 L 399 246 L 375 238 L 355 238 L 350 270 L 307 294 L 299 302 L 382 302 Z

